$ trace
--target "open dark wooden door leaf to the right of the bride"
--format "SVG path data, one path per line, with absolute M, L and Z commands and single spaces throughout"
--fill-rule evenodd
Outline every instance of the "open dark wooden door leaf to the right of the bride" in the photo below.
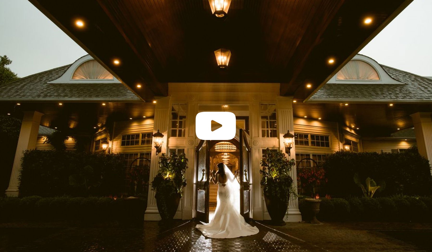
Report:
M 249 146 L 246 132 L 240 129 L 240 214 L 245 220 L 250 218 L 251 213 L 251 147 Z

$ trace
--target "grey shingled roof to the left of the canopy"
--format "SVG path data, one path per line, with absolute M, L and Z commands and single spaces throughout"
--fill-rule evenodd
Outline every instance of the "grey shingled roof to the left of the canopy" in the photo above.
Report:
M 0 86 L 0 101 L 141 101 L 121 83 L 47 83 L 70 65 L 24 77 Z

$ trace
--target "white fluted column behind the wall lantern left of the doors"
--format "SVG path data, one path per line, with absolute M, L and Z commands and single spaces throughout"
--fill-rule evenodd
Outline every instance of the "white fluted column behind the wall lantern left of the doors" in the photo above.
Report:
M 161 132 L 163 137 L 162 143 L 162 151 L 156 156 L 156 148 L 152 148 L 152 158 L 150 163 L 150 176 L 149 181 L 153 181 L 153 178 L 156 176 L 159 170 L 159 157 L 162 153 L 167 153 L 168 146 L 168 123 L 169 123 L 169 101 L 170 97 L 164 97 L 157 100 L 156 108 L 155 108 L 155 117 L 154 117 L 154 125 L 153 125 L 153 133 Z M 159 221 L 161 217 L 159 215 L 158 207 L 156 206 L 156 198 L 155 192 L 150 188 L 149 195 L 147 198 L 147 209 L 146 214 L 144 215 L 145 221 Z

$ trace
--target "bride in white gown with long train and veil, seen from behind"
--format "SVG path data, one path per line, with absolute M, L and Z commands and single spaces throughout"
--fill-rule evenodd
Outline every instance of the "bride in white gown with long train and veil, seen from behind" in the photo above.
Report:
M 218 172 L 210 174 L 210 180 L 218 184 L 213 220 L 196 228 L 210 238 L 235 238 L 258 233 L 258 228 L 247 224 L 240 214 L 240 184 L 237 179 L 225 164 L 219 163 L 217 167 Z

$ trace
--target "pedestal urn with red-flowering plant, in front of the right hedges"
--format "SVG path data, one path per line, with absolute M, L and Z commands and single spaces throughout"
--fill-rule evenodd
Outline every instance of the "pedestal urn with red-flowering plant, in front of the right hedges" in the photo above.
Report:
M 305 158 L 306 161 L 311 161 L 310 158 Z M 302 160 L 303 161 L 303 160 Z M 313 161 L 313 160 L 312 160 Z M 300 178 L 302 188 L 309 192 L 311 198 L 305 198 L 306 208 L 308 211 L 305 216 L 310 217 L 309 221 L 311 224 L 319 224 L 316 215 L 320 211 L 321 199 L 319 199 L 316 188 L 319 186 L 322 180 L 324 180 L 324 169 L 319 167 L 316 161 L 312 167 L 297 167 L 297 176 Z

